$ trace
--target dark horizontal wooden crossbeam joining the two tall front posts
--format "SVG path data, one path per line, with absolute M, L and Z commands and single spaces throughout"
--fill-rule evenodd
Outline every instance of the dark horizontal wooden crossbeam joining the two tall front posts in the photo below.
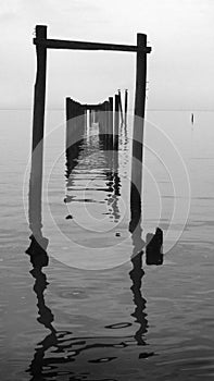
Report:
M 34 38 L 34 44 L 49 49 L 142 51 L 143 53 L 150 53 L 152 50 L 150 47 L 137 47 L 135 45 L 70 41 L 50 38 Z

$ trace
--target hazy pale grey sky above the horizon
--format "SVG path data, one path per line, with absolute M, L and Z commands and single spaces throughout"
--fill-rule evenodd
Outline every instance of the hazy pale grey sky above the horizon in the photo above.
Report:
M 0 108 L 30 108 L 36 73 L 33 34 L 136 44 L 148 35 L 148 108 L 214 108 L 214 0 L 0 0 Z M 48 51 L 47 107 L 71 96 L 99 102 L 135 89 L 135 53 Z

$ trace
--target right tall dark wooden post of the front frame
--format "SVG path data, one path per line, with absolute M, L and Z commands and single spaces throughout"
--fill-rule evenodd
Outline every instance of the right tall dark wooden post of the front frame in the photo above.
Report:
M 142 188 L 142 153 L 143 153 L 143 127 L 144 105 L 147 85 L 147 35 L 137 34 L 137 71 L 135 115 L 133 132 L 133 162 L 131 162 L 131 186 L 130 186 L 130 212 L 131 220 L 138 223 L 141 214 L 141 188 Z M 135 224 L 135 223 L 134 223 Z

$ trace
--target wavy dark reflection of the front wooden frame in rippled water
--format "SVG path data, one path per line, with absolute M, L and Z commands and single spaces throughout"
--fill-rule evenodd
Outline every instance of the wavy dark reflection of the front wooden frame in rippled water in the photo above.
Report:
M 144 312 L 146 299 L 141 295 L 141 279 L 144 274 L 141 268 L 141 256 L 142 253 L 139 253 L 131 259 L 133 270 L 129 272 L 130 280 L 133 282 L 130 290 L 134 294 L 134 304 L 135 311 L 131 314 L 136 318 L 136 322 L 140 324 L 140 328 L 133 335 L 127 336 L 74 336 L 73 332 L 70 331 L 56 331 L 53 327 L 54 316 L 51 309 L 46 305 L 45 300 L 45 291 L 47 290 L 48 282 L 47 275 L 42 271 L 43 261 L 39 263 L 33 262 L 34 269 L 30 271 L 30 274 L 35 279 L 34 292 L 37 296 L 37 307 L 38 322 L 42 324 L 50 333 L 38 343 L 38 347 L 35 348 L 34 358 L 26 370 L 30 373 L 30 381 L 35 380 L 49 380 L 54 379 L 58 374 L 71 374 L 73 380 L 87 380 L 88 370 L 87 364 L 104 364 L 114 360 L 118 360 L 123 364 L 123 353 L 121 349 L 126 348 L 131 339 L 136 340 L 137 345 L 146 345 L 146 340 L 143 335 L 148 331 L 148 320 L 147 314 Z M 30 259 L 32 260 L 32 259 Z M 131 325 L 131 323 L 126 323 L 126 327 Z M 105 327 L 106 329 L 123 329 L 125 328 L 124 323 L 110 324 Z M 92 355 L 90 349 L 93 349 Z M 110 349 L 114 349 L 111 355 Z M 115 349 L 118 349 L 118 355 L 115 356 Z M 88 352 L 89 351 L 89 352 Z M 78 356 L 81 354 L 88 353 L 84 357 Z M 153 353 L 143 352 L 139 354 L 139 358 L 147 358 L 152 356 Z M 119 356 L 122 356 L 119 358 Z M 78 360 L 78 361 L 77 361 Z M 77 366 L 74 367 L 74 361 L 77 361 Z M 73 366 L 72 366 L 73 364 Z M 84 364 L 86 369 L 84 368 Z M 65 367 L 66 365 L 66 367 Z M 71 368 L 72 367 L 72 368 Z M 96 373 L 96 368 L 91 370 L 92 374 Z M 88 372 L 90 379 L 90 373 Z M 100 379 L 100 380 L 105 380 Z M 116 380 L 116 379 L 114 379 Z

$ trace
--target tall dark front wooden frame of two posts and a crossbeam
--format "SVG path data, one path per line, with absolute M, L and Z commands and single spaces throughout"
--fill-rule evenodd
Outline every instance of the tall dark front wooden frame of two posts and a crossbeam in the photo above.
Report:
M 46 72 L 47 72 L 47 49 L 77 49 L 77 50 L 109 50 L 109 51 L 126 51 L 137 53 L 137 73 L 136 73 L 136 97 L 135 97 L 135 121 L 134 121 L 134 139 L 133 139 L 133 167 L 131 167 L 131 192 L 130 205 L 131 210 L 141 209 L 141 177 L 142 177 L 142 143 L 143 143 L 143 119 L 146 102 L 146 76 L 147 76 L 147 53 L 151 52 L 151 48 L 147 47 L 147 35 L 137 35 L 137 45 L 119 45 L 119 44 L 102 44 L 86 42 L 73 40 L 59 40 L 47 38 L 47 26 L 36 26 L 36 38 L 34 38 L 37 53 L 37 75 L 34 95 L 34 121 L 33 121 L 33 145 L 32 145 L 32 174 L 29 194 L 32 194 L 30 202 L 34 204 L 34 216 L 32 221 L 34 226 L 33 234 L 40 232 L 41 229 L 41 190 L 42 190 L 42 153 L 43 153 L 43 121 L 45 121 L 45 101 L 46 101 Z M 114 118 L 114 148 L 118 149 L 118 95 L 115 96 L 115 118 Z M 112 103 L 105 105 L 105 111 L 112 110 Z M 85 113 L 85 105 L 74 105 L 75 114 Z M 87 108 L 89 109 L 89 108 Z M 109 131 L 112 131 L 112 121 L 105 124 L 103 114 L 104 103 L 98 107 L 92 106 L 92 110 L 98 110 L 97 120 L 104 126 L 108 124 Z M 100 112 L 102 111 L 102 112 Z M 108 111 L 109 112 L 109 111 Z M 79 113 L 79 114 L 78 114 Z M 105 115 L 106 116 L 106 115 Z M 71 119 L 67 115 L 67 119 Z M 68 139 L 70 142 L 70 139 Z M 136 162 L 138 163 L 136 165 Z M 30 208 L 30 210 L 33 210 Z

